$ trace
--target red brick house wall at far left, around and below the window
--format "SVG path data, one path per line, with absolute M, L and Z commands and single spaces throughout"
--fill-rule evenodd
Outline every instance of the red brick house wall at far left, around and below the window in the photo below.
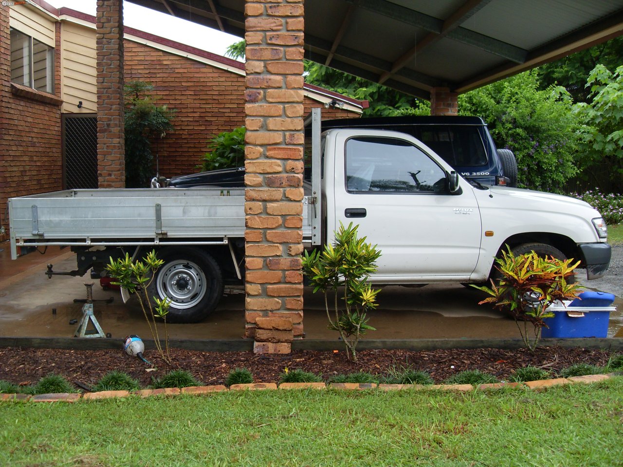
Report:
M 0 224 L 5 229 L 8 197 L 62 189 L 60 99 L 11 85 L 10 37 L 9 7 L 0 6 Z

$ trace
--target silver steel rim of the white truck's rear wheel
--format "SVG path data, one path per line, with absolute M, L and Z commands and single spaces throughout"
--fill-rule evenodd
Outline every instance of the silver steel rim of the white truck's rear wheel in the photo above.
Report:
M 168 263 L 158 274 L 158 295 L 171 300 L 178 309 L 192 308 L 206 295 L 206 275 L 192 261 Z

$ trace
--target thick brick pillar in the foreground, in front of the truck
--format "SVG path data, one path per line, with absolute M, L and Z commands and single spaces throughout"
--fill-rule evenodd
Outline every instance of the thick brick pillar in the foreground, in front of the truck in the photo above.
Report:
M 303 334 L 303 0 L 245 2 L 245 335 L 288 353 Z

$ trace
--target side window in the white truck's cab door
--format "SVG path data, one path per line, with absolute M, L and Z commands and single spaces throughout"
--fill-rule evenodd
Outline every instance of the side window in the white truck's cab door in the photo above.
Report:
M 346 142 L 346 190 L 444 192 L 445 171 L 402 139 L 351 138 Z

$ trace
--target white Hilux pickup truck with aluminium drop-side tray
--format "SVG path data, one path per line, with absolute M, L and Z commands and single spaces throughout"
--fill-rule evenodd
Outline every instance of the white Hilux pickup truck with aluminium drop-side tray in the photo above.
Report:
M 377 284 L 479 283 L 506 245 L 516 253 L 576 258 L 587 278 L 609 266 L 607 228 L 577 199 L 466 181 L 406 133 L 312 124 L 312 182 L 306 184 L 303 242 L 333 240 L 340 222 L 378 244 Z M 169 321 L 201 321 L 225 285 L 244 282 L 244 191 L 213 187 L 67 190 L 9 200 L 12 258 L 24 248 L 69 246 L 77 270 L 105 273 L 110 257 L 165 261 L 151 288 L 173 300 Z

